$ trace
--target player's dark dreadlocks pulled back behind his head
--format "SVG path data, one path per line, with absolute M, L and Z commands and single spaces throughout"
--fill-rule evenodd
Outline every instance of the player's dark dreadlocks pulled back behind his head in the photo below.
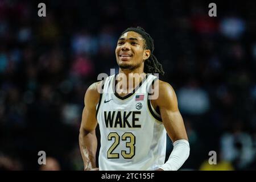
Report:
M 142 38 L 145 40 L 145 48 L 150 49 L 151 51 L 150 57 L 148 57 L 148 59 L 144 61 L 144 72 L 160 73 L 161 75 L 164 75 L 162 64 L 160 64 L 156 59 L 156 57 L 153 55 L 153 51 L 155 47 L 154 47 L 154 40 L 151 38 L 151 36 L 142 27 L 127 28 L 125 31 L 122 32 L 121 35 L 129 31 L 137 32 L 138 34 L 140 34 Z

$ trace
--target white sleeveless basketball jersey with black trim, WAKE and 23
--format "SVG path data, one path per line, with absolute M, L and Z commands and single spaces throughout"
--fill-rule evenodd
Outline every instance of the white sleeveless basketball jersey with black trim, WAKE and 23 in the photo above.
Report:
M 166 130 L 148 100 L 148 89 L 157 77 L 142 80 L 125 97 L 115 93 L 115 76 L 106 78 L 97 105 L 100 126 L 100 170 L 155 170 L 166 157 Z

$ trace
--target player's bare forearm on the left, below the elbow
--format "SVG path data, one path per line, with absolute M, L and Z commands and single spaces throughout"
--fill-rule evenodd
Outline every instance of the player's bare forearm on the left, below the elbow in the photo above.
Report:
M 96 168 L 97 137 L 95 130 L 87 132 L 80 130 L 79 145 L 84 161 L 84 169 Z

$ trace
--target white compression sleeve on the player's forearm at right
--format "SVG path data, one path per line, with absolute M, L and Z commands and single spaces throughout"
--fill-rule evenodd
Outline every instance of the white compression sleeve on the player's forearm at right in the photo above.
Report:
M 167 162 L 161 165 L 159 168 L 164 171 L 177 171 L 189 156 L 189 143 L 185 139 L 176 140 L 174 142 L 174 149 Z

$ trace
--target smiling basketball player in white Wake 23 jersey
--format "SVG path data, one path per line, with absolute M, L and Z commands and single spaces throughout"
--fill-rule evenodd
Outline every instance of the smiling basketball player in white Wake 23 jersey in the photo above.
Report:
M 164 74 L 153 51 L 153 40 L 143 28 L 127 28 L 115 49 L 119 73 L 90 85 L 86 91 L 79 135 L 85 170 L 174 171 L 187 160 L 188 137 L 174 89 L 148 74 Z M 120 79 L 123 75 L 127 78 L 126 86 L 119 84 L 125 80 Z M 134 79 L 134 75 L 139 79 Z M 153 100 L 150 90 L 154 88 L 158 88 L 159 93 Z M 101 134 L 98 168 L 97 123 Z M 166 132 L 174 149 L 164 163 Z

